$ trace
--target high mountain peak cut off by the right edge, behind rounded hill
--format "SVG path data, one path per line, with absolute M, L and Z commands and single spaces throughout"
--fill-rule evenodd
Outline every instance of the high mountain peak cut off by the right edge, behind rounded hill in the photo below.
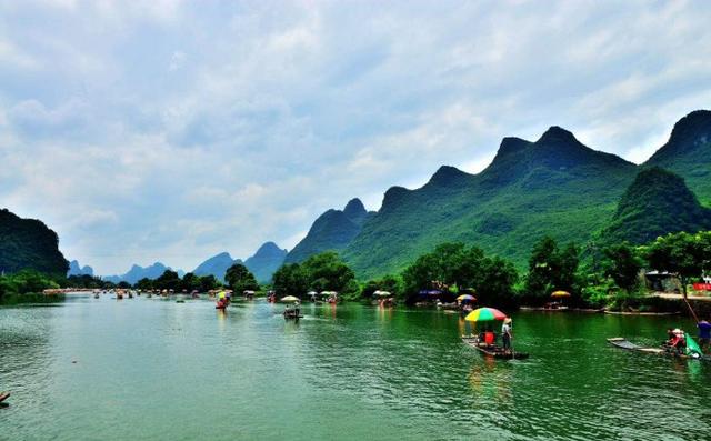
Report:
M 697 110 L 679 120 L 669 141 L 644 166 L 682 176 L 691 191 L 711 206 L 711 111 Z

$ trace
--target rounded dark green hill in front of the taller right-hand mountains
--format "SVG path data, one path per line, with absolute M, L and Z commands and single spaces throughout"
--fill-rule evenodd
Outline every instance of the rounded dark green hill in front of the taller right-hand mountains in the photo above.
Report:
M 652 167 L 640 171 L 627 189 L 602 239 L 643 244 L 667 233 L 709 229 L 711 209 L 699 203 L 681 177 Z

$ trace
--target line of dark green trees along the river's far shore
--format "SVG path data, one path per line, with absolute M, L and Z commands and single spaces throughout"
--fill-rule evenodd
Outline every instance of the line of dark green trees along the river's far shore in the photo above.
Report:
M 187 273 L 182 278 L 167 270 L 158 279 L 141 279 L 133 285 L 112 283 L 91 275 L 42 273 L 32 269 L 0 275 L 0 302 L 48 301 L 47 289 L 140 289 L 173 292 L 207 292 L 229 288 L 236 293 L 274 291 L 278 297 L 306 299 L 309 292 L 338 292 L 340 301 L 372 301 L 387 293 L 393 302 L 450 303 L 471 293 L 478 304 L 515 309 L 551 303 L 553 292 L 567 292 L 567 308 L 610 311 L 678 312 L 680 303 L 703 282 L 711 270 L 711 231 L 672 233 L 641 247 L 627 242 L 580 248 L 559 244 L 550 237 L 531 250 L 528 271 L 475 245 L 447 242 L 422 254 L 401 272 L 372 280 L 358 280 L 336 252 L 322 252 L 277 270 L 271 283 L 260 284 L 242 264 L 226 273 L 224 282 L 213 275 Z M 699 284 L 697 284 L 699 287 Z M 702 288 L 709 288 L 702 284 Z M 678 292 L 682 300 L 653 295 Z M 707 295 L 701 291 L 697 294 Z

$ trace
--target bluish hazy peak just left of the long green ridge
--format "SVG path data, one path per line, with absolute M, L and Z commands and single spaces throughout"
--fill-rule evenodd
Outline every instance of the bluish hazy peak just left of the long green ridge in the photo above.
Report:
M 309 233 L 284 259 L 286 263 L 300 262 L 323 251 L 344 249 L 360 232 L 368 211 L 360 199 L 352 199 L 343 210 L 328 210 L 311 225 Z

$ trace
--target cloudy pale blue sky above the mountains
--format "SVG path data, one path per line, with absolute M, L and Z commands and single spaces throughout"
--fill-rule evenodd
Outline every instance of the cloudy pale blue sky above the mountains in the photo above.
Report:
M 98 274 L 292 248 L 550 126 L 643 162 L 711 104 L 707 1 L 0 0 L 0 207 Z

